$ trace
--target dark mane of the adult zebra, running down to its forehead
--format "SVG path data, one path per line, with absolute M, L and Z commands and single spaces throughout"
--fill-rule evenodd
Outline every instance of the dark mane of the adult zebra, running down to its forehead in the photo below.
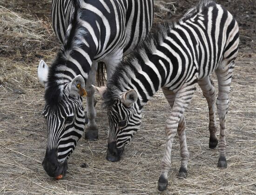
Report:
M 74 9 L 67 27 L 64 43 L 57 53 L 54 62 L 49 67 L 48 72 L 45 101 L 52 107 L 61 101 L 63 95 L 63 84 L 57 82 L 59 78 L 55 75 L 56 70 L 59 65 L 66 64 L 66 61 L 75 48 L 81 47 L 81 37 L 87 33 L 79 22 L 81 17 L 80 0 L 73 0 L 72 2 Z

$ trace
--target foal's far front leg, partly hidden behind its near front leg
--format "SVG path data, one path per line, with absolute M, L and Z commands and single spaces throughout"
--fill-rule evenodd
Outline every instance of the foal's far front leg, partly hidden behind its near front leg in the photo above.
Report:
M 172 108 L 175 101 L 175 93 L 166 88 L 162 88 L 162 91 L 169 105 Z M 179 135 L 181 157 L 182 157 L 181 167 L 178 173 L 179 178 L 187 178 L 187 175 L 188 175 L 189 151 L 187 147 L 185 128 L 186 128 L 186 121 L 185 121 L 185 117 L 182 114 L 181 119 L 179 121 L 179 125 L 178 125 L 178 135 Z

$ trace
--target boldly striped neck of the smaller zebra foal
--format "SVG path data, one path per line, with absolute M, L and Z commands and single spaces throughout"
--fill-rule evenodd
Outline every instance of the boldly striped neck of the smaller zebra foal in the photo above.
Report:
M 134 89 L 137 92 L 139 108 L 142 108 L 165 85 L 167 71 L 168 74 L 172 72 L 172 64 L 166 66 L 164 64 L 166 62 L 157 55 L 158 53 L 157 49 L 153 54 L 141 49 L 138 54 L 129 55 L 116 70 L 116 73 L 120 73 L 122 72 L 120 69 L 123 69 L 123 74 L 113 75 L 112 81 L 120 81 L 123 85 L 121 88 Z

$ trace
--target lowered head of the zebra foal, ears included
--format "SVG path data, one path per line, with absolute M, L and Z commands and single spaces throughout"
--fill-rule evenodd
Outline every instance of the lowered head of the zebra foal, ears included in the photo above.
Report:
M 136 104 L 138 95 L 134 89 L 109 97 L 105 87 L 95 87 L 108 108 L 108 161 L 119 161 L 124 147 L 130 143 L 141 124 L 141 111 Z

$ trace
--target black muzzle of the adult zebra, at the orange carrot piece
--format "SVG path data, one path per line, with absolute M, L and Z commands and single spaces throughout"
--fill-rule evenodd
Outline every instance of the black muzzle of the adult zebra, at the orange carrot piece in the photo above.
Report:
M 62 175 L 62 178 L 67 173 L 67 158 L 64 162 L 60 163 L 58 162 L 57 150 L 50 150 L 46 152 L 42 166 L 50 177 L 57 178 Z

